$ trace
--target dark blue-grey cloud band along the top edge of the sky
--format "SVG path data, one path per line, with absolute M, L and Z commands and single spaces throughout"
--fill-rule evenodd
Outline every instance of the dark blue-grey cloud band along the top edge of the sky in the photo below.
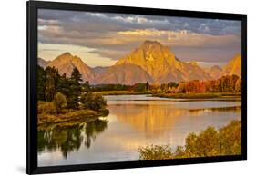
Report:
M 39 10 L 39 19 L 57 20 L 67 29 L 119 31 L 121 29 L 157 28 L 159 30 L 189 30 L 203 34 L 240 34 L 241 22 L 219 19 L 167 17 L 153 15 L 123 15 L 61 10 Z M 99 27 L 102 26 L 102 27 Z

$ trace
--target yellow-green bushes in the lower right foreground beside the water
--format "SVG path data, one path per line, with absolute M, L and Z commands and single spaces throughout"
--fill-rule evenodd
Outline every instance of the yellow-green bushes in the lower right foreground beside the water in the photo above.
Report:
M 199 134 L 190 133 L 185 146 L 172 151 L 169 145 L 140 147 L 139 160 L 166 160 L 241 154 L 241 121 L 232 121 L 216 131 L 208 127 Z

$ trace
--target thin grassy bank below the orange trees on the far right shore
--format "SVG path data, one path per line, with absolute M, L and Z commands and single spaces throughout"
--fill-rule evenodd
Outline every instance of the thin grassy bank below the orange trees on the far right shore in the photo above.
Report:
M 240 93 L 157 93 L 155 97 L 173 98 L 173 99 L 234 99 L 241 98 Z

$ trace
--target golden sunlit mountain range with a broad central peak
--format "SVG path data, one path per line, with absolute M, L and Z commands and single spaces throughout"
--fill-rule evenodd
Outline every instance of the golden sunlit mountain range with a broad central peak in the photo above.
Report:
M 168 46 L 156 41 L 145 41 L 128 55 L 118 59 L 109 67 L 91 68 L 81 58 L 71 53 L 63 53 L 53 61 L 38 58 L 38 64 L 56 67 L 59 73 L 70 76 L 74 67 L 82 74 L 84 81 L 90 83 L 169 83 L 190 80 L 217 79 L 225 74 L 241 76 L 241 54 L 237 54 L 224 67 L 214 65 L 208 69 L 197 62 L 182 62 Z

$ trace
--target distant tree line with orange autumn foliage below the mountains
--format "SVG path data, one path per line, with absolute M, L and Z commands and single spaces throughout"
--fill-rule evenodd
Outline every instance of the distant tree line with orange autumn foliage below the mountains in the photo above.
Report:
M 97 84 L 91 87 L 94 92 L 101 91 L 132 91 L 153 93 L 203 93 L 203 92 L 241 92 L 241 78 L 238 75 L 225 75 L 217 80 L 193 80 L 189 82 L 169 82 L 161 84 L 135 83 L 126 84 Z

